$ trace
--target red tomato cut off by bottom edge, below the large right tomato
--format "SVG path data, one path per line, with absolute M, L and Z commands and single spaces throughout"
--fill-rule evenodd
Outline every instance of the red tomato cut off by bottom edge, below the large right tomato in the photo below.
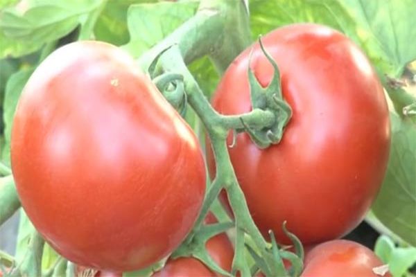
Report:
M 367 247 L 348 240 L 332 240 L 318 244 L 306 253 L 302 277 L 380 277 L 374 267 L 383 262 Z M 391 276 L 390 273 L 383 275 Z

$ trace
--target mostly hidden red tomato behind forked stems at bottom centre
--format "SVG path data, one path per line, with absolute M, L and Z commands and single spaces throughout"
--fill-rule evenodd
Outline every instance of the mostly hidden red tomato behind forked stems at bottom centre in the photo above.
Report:
M 205 223 L 215 223 L 216 219 L 211 213 Z M 211 258 L 224 270 L 231 271 L 234 249 L 225 233 L 210 238 L 206 244 Z M 191 276 L 218 276 L 196 258 L 177 258 L 168 260 L 164 268 L 153 274 L 153 277 L 191 277 Z

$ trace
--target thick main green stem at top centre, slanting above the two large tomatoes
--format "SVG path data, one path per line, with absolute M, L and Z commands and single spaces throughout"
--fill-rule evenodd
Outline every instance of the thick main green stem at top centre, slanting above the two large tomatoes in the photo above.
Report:
M 209 55 L 222 73 L 250 43 L 243 1 L 202 0 L 196 15 L 141 55 L 139 64 L 147 70 L 159 53 L 177 45 L 186 64 Z

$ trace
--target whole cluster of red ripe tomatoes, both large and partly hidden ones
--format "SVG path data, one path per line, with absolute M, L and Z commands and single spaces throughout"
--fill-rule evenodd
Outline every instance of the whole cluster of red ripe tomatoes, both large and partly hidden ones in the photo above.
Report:
M 376 73 L 355 44 L 324 26 L 279 28 L 263 45 L 279 65 L 293 116 L 278 145 L 260 150 L 241 133 L 229 148 L 254 222 L 284 244 L 287 221 L 309 249 L 304 276 L 376 276 L 381 261 L 372 251 L 333 240 L 363 220 L 387 166 L 390 122 Z M 212 100 L 221 114 L 252 109 L 248 66 L 263 87 L 270 82 L 271 64 L 258 45 L 249 60 L 251 49 L 223 75 Z M 191 231 L 205 195 L 205 159 L 192 129 L 129 55 L 101 42 L 68 44 L 40 64 L 19 100 L 11 154 L 31 222 L 85 267 L 132 271 L 168 256 Z M 227 206 L 225 194 L 222 200 Z M 207 249 L 231 269 L 225 233 Z M 154 276 L 216 274 L 179 258 Z

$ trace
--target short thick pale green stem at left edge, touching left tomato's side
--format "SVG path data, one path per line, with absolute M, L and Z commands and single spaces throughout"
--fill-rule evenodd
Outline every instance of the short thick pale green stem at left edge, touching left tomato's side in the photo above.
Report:
M 20 208 L 12 175 L 0 178 L 0 225 Z

